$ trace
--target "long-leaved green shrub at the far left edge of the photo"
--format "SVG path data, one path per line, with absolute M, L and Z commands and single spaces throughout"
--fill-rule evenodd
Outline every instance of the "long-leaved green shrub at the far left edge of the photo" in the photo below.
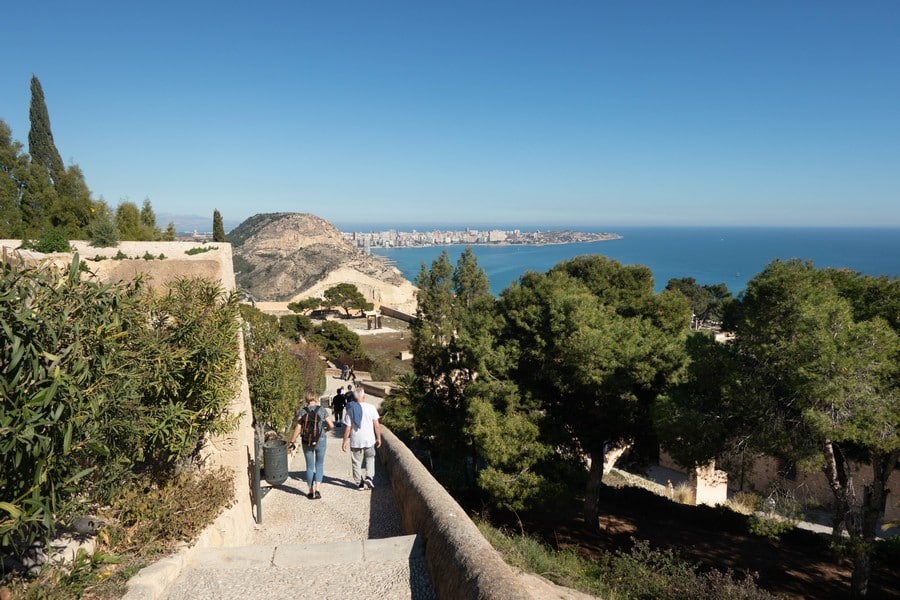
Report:
M 77 509 L 108 452 L 104 410 L 128 381 L 112 348 L 138 326 L 137 288 L 81 281 L 79 264 L 76 255 L 67 273 L 2 269 L 0 545 L 14 549 L 48 539 L 55 518 Z

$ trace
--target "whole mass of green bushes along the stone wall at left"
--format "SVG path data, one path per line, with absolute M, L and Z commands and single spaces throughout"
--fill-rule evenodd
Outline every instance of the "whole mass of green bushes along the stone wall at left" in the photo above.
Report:
M 0 275 L 3 546 L 46 541 L 136 477 L 166 479 L 230 428 L 237 303 L 217 284 L 101 285 L 77 257 Z

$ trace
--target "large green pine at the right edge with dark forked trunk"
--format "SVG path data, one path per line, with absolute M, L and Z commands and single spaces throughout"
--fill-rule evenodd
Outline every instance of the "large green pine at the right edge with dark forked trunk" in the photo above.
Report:
M 900 458 L 900 340 L 880 314 L 896 307 L 898 285 L 774 261 L 726 315 L 738 369 L 728 393 L 742 432 L 756 448 L 824 472 L 835 534 L 849 534 L 854 596 L 867 591 L 887 478 Z M 884 302 L 867 307 L 873 298 Z M 873 469 L 862 488 L 854 459 Z

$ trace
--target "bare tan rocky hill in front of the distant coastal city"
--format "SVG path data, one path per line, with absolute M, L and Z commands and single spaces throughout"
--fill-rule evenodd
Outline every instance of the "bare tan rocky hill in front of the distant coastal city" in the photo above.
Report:
M 238 285 L 262 302 L 292 302 L 352 283 L 376 306 L 415 312 L 415 287 L 396 268 L 366 255 L 334 225 L 310 214 L 250 217 L 228 234 Z

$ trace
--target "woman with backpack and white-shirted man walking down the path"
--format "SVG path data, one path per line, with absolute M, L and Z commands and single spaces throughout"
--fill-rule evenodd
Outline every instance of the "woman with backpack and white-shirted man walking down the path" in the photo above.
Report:
M 366 392 L 352 385 L 338 388 L 331 401 L 337 420 L 324 406 L 319 405 L 315 392 L 306 393 L 306 406 L 297 411 L 296 425 L 291 435 L 290 449 L 303 449 L 306 459 L 307 497 L 317 500 L 322 497 L 320 486 L 325 470 L 325 450 L 328 446 L 326 432 L 335 427 L 343 428 L 341 450 L 350 450 L 350 467 L 353 485 L 360 490 L 375 489 L 375 449 L 381 447 L 381 423 L 378 409 L 366 402 Z M 365 472 L 365 474 L 364 474 Z

